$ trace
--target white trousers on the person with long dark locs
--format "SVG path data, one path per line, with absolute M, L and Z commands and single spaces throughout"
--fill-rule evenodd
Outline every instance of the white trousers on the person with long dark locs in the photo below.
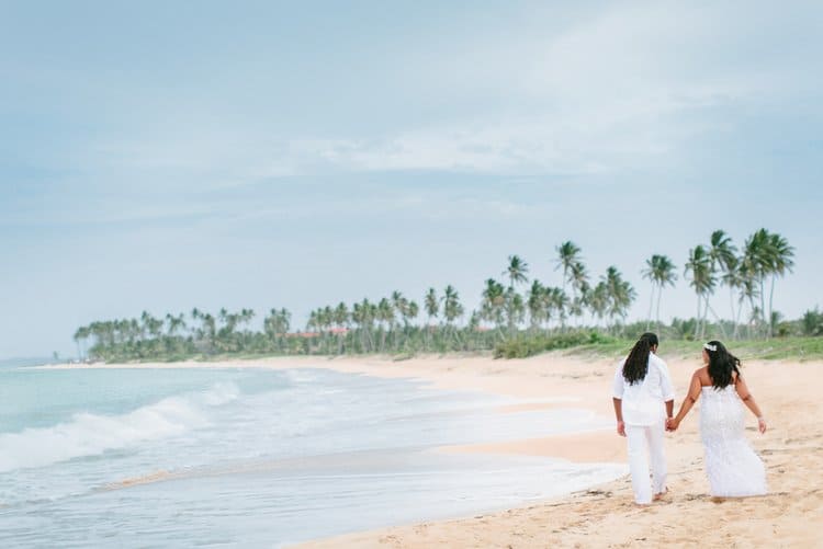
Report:
M 663 422 L 654 425 L 627 425 L 629 443 L 629 470 L 632 476 L 634 501 L 641 505 L 652 503 L 652 494 L 666 490 L 666 456 L 663 453 Z M 647 454 L 646 454 L 647 453 Z M 652 462 L 652 481 L 649 479 L 649 456 Z

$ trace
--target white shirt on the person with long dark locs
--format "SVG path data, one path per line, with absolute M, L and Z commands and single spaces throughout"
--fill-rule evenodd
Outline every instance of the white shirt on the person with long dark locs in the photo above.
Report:
M 649 355 L 646 377 L 630 385 L 623 377 L 622 359 L 615 371 L 612 397 L 622 400 L 627 425 L 654 425 L 666 418 L 664 402 L 675 399 L 668 366 L 654 353 Z

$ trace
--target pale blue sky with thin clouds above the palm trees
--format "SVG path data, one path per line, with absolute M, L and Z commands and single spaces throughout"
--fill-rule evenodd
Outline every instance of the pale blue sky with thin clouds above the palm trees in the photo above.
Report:
M 823 306 L 819 2 L 0 0 L 0 357 L 93 320 L 421 300 L 467 309 L 572 240 L 644 261 L 760 227 L 775 308 Z M 718 294 L 715 309 L 728 311 Z M 721 305 L 723 304 L 723 305 Z

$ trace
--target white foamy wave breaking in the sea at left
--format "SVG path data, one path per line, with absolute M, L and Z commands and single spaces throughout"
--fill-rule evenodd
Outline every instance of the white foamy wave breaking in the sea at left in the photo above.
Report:
M 82 412 L 50 427 L 0 434 L 0 472 L 44 467 L 179 435 L 207 425 L 207 409 L 230 402 L 238 394 L 234 384 L 217 384 L 204 392 L 169 397 L 121 415 Z

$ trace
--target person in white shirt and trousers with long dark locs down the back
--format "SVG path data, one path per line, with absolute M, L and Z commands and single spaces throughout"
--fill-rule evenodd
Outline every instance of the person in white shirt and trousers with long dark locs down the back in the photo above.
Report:
M 657 345 L 657 335 L 641 335 L 618 365 L 612 389 L 617 432 L 627 437 L 632 489 L 639 505 L 649 505 L 667 490 L 663 436 L 666 418 L 672 418 L 674 411 L 675 393 L 668 366 L 655 354 Z

